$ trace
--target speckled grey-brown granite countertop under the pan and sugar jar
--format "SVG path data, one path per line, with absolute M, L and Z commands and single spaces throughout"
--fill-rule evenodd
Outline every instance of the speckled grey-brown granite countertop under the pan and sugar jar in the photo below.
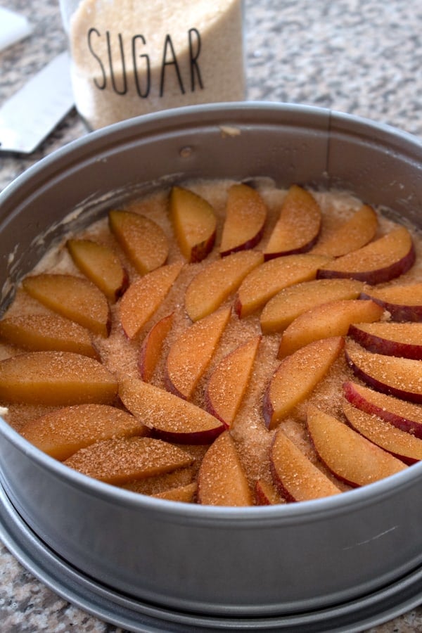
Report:
M 58 0 L 0 0 L 34 30 L 0 52 L 0 106 L 66 48 Z M 420 0 L 245 0 L 248 99 L 324 106 L 422 136 Z M 87 134 L 72 110 L 32 155 L 0 153 L 0 190 Z M 0 630 L 120 632 L 71 606 L 0 546 Z M 371 633 L 422 630 L 422 608 Z

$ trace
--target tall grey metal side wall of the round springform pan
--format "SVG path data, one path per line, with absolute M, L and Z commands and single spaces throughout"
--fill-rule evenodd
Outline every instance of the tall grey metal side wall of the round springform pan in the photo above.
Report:
M 343 188 L 422 222 L 422 146 L 409 134 L 306 106 L 182 108 L 91 133 L 1 193 L 4 304 L 70 227 L 126 196 L 196 177 Z M 413 600 L 419 593 L 421 463 L 330 499 L 215 508 L 89 480 L 3 420 L 0 433 L 1 484 L 22 525 L 81 577 L 128 599 L 253 620 L 336 608 L 404 577 L 414 579 Z

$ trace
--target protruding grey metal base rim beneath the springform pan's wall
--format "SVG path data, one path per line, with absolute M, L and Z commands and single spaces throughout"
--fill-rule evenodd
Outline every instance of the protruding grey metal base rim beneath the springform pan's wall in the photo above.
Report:
M 417 606 L 422 598 L 422 568 L 418 568 L 358 600 L 286 617 L 213 618 L 135 601 L 101 586 L 51 551 L 25 524 L 2 487 L 0 537 L 25 568 L 65 600 L 134 633 L 206 633 L 210 630 L 353 633 L 392 620 Z

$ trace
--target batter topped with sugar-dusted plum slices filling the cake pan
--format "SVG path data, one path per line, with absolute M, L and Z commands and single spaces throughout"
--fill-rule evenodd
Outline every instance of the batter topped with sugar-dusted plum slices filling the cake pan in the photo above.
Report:
M 269 180 L 155 191 L 46 253 L 0 320 L 4 418 L 160 499 L 347 494 L 422 459 L 416 230 Z

